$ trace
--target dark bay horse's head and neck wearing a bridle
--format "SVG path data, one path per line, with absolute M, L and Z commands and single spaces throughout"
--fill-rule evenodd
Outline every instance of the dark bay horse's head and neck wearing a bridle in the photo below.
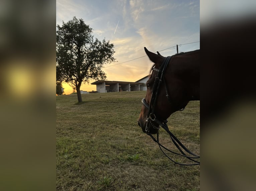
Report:
M 144 50 L 154 64 L 146 82 L 147 92 L 145 98 L 142 99 L 143 105 L 138 125 L 154 141 L 156 140 L 152 134 L 157 133 L 158 137 L 160 126 L 170 134 L 172 140 L 176 140 L 176 137 L 168 130 L 167 118 L 172 113 L 183 110 L 189 101 L 200 100 L 200 49 L 168 57 L 163 57 L 159 52 L 152 53 L 146 47 Z M 176 141 L 180 143 L 179 140 Z M 181 147 L 183 148 L 183 145 Z M 181 153 L 188 158 L 184 152 L 181 151 Z M 191 154 L 190 151 L 188 153 Z

